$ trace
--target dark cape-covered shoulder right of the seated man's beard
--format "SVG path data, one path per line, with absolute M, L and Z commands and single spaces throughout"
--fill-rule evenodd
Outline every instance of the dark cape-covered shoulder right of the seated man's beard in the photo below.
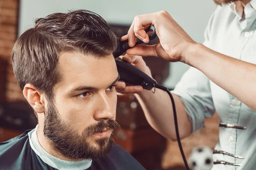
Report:
M 104 164 L 105 169 L 145 170 L 145 168 L 130 153 L 114 143 L 111 152 L 104 158 L 94 161 Z

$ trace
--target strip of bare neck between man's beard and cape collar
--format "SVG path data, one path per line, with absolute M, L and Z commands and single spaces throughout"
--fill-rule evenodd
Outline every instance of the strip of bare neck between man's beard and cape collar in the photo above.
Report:
M 44 130 L 42 129 L 42 126 L 38 127 L 36 133 L 38 136 L 38 142 L 41 145 L 41 147 L 43 147 L 44 150 L 46 150 L 52 156 L 54 156 L 58 159 L 61 159 L 61 160 L 65 160 L 65 161 L 81 161 L 81 160 L 77 160 L 77 159 L 66 158 L 65 156 L 61 155 L 60 153 L 58 153 L 54 149 L 52 149 L 49 142 L 47 142 L 48 141 L 47 138 L 44 136 Z

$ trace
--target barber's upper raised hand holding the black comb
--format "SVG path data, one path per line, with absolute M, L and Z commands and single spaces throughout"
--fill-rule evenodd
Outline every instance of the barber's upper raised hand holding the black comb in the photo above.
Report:
M 166 11 L 134 17 L 128 34 L 123 36 L 122 40 L 128 39 L 130 47 L 135 45 L 136 37 L 143 40 L 143 42 L 149 42 L 148 34 L 144 31 L 148 25 L 152 25 L 156 29 L 159 37 L 157 44 L 138 45 L 126 51 L 127 54 L 162 57 L 169 62 L 186 62 L 186 52 L 189 46 L 196 42 L 186 34 Z

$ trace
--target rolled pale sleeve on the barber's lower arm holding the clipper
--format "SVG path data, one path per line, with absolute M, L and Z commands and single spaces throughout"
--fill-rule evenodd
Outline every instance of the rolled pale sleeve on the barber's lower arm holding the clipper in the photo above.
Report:
M 209 47 L 209 34 L 214 14 L 210 17 L 204 32 L 204 45 Z M 185 106 L 189 120 L 192 122 L 193 132 L 204 127 L 204 119 L 212 117 L 215 107 L 212 101 L 209 79 L 198 69 L 190 67 L 183 74 L 180 82 L 171 91 L 180 97 Z

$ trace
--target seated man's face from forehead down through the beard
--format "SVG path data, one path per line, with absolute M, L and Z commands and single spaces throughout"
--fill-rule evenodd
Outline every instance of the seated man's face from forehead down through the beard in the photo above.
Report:
M 116 123 L 115 83 L 119 78 L 113 56 L 95 58 L 62 53 L 62 80 L 48 101 L 44 135 L 55 151 L 71 159 L 98 159 L 113 143 Z

